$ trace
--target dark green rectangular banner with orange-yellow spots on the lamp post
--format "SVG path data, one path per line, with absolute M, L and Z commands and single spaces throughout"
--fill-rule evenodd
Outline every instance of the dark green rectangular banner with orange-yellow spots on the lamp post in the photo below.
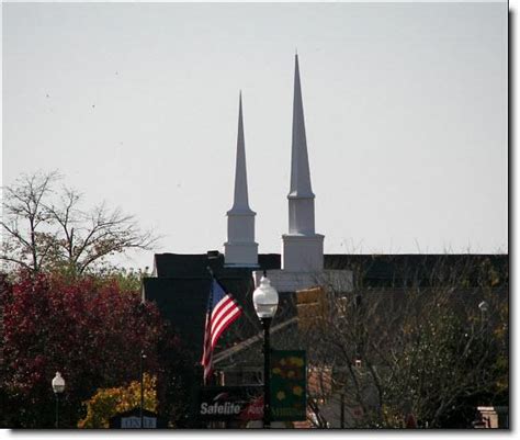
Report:
M 307 362 L 304 350 L 271 351 L 271 419 L 307 419 Z

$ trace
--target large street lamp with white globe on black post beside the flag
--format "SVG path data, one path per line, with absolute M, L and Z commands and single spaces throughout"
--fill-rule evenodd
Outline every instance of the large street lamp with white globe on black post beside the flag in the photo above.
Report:
M 260 285 L 252 293 L 255 312 L 263 327 L 263 427 L 271 426 L 271 393 L 270 393 L 270 358 L 271 348 L 269 343 L 269 327 L 278 308 L 278 292 L 265 277 L 265 271 L 260 280 Z

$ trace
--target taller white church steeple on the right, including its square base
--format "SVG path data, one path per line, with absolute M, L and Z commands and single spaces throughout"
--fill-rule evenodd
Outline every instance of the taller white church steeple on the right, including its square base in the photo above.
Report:
M 321 270 L 324 268 L 324 236 L 315 233 L 315 195 L 310 187 L 297 54 L 294 71 L 291 188 L 287 199 L 289 234 L 282 236 L 282 269 L 302 272 Z

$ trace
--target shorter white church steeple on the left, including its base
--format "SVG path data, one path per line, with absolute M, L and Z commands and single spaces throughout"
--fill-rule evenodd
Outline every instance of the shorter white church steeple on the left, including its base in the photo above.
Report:
M 242 95 L 238 104 L 237 158 L 235 168 L 235 196 L 227 212 L 227 242 L 224 244 L 226 266 L 258 266 L 258 244 L 255 242 L 255 216 L 249 207 L 244 140 Z

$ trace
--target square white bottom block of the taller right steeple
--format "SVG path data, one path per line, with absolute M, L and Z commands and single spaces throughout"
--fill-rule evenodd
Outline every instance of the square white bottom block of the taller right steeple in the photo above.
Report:
M 324 238 L 321 234 L 282 235 L 282 270 L 294 272 L 323 270 Z

